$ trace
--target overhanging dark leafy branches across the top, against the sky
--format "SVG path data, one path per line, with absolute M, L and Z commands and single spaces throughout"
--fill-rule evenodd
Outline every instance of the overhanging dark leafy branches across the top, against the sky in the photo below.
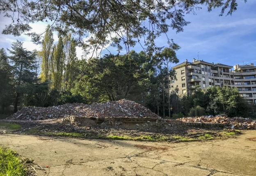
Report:
M 194 13 L 200 5 L 206 5 L 208 11 L 220 7 L 221 15 L 226 9 L 227 15 L 231 15 L 238 7 L 237 0 L 26 0 L 22 3 L 1 0 L 0 12 L 12 18 L 11 24 L 2 31 L 4 34 L 18 36 L 31 29 L 29 23 L 50 21 L 50 27 L 60 34 L 72 31 L 87 51 L 91 48 L 95 52 L 108 43 L 119 50 L 123 44 L 129 51 L 136 42 L 144 41 L 141 45 L 154 52 L 160 49 L 155 39 L 170 28 L 182 32 L 189 23 L 184 15 Z M 42 34 L 30 35 L 37 42 Z M 168 37 L 167 43 L 170 48 L 175 47 Z

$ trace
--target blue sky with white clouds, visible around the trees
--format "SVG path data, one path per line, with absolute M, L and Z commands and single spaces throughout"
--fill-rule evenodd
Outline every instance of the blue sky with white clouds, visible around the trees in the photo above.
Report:
M 176 34 L 174 30 L 167 33 L 170 39 L 181 47 L 176 54 L 180 62 L 193 58 L 206 62 L 222 63 L 234 66 L 235 64 L 256 63 L 256 0 L 238 0 L 238 9 L 232 16 L 219 16 L 221 9 L 207 11 L 206 7 L 196 11 L 196 14 L 186 14 L 185 20 L 190 24 L 184 27 L 184 31 Z M 0 30 L 8 24 L 9 20 L 0 16 Z M 33 23 L 32 31 L 43 32 L 46 23 Z M 23 41 L 28 50 L 40 50 L 39 45 L 30 41 L 30 37 L 21 35 L 0 34 L 0 48 L 10 48 L 11 43 Z M 57 34 L 54 34 L 57 42 Z M 156 40 L 157 46 L 167 47 L 167 39 L 163 35 Z M 82 56 L 82 49 L 77 47 L 78 58 Z M 117 53 L 116 48 L 107 47 L 111 53 Z M 141 46 L 136 45 L 133 50 L 139 52 Z M 125 53 L 126 51 L 123 51 Z M 104 53 L 109 53 L 103 50 Z

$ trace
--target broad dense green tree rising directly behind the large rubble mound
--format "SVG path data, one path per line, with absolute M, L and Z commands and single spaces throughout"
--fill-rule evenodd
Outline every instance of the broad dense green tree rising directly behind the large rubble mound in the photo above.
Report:
M 128 98 L 145 102 L 148 92 L 148 74 L 144 53 L 131 51 L 129 55 L 105 55 L 100 59 L 81 61 L 74 93 L 80 93 L 91 101 L 116 101 Z M 79 64 L 79 65 L 80 65 Z

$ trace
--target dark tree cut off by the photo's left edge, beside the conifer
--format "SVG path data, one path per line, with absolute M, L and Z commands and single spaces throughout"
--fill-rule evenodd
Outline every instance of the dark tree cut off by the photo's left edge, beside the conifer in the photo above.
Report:
M 12 67 L 3 48 L 0 49 L 0 107 L 2 114 L 5 107 L 11 105 L 13 100 Z

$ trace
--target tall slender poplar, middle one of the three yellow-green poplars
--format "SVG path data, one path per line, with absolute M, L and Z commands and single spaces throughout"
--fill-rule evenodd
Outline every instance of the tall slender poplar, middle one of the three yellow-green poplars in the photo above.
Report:
M 63 52 L 63 42 L 62 37 L 59 37 L 59 41 L 53 53 L 52 61 L 52 88 L 61 91 L 62 80 L 63 80 L 63 71 L 64 71 L 64 61 L 65 54 Z

